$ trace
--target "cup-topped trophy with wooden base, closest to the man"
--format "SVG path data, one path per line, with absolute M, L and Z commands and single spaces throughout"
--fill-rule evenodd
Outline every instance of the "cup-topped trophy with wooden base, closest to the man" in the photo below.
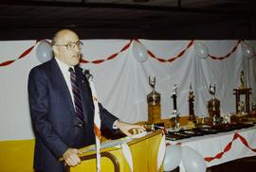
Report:
M 149 84 L 152 88 L 152 92 L 147 95 L 148 122 L 157 123 L 161 121 L 161 95 L 155 92 L 155 77 L 149 77 Z

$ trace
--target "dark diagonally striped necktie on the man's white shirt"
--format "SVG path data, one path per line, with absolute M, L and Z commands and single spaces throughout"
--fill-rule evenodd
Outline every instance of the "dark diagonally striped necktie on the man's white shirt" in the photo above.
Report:
M 82 127 L 83 124 L 83 112 L 82 112 L 82 99 L 80 95 L 80 89 L 78 82 L 76 80 L 76 74 L 73 70 L 73 68 L 69 68 L 68 71 L 70 72 L 70 81 L 71 81 L 71 87 L 72 87 L 72 93 L 74 96 L 74 103 L 75 103 L 75 112 L 77 119 L 79 120 L 78 126 Z

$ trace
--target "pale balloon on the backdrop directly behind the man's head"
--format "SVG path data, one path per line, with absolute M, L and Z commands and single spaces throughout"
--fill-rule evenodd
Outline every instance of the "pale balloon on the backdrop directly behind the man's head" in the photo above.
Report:
M 52 58 L 51 44 L 46 40 L 40 41 L 36 47 L 36 57 L 41 62 L 46 62 Z

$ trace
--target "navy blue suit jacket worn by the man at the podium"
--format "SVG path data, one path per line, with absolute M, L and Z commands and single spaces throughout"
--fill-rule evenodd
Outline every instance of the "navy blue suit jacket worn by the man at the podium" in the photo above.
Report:
M 75 127 L 76 115 L 71 95 L 59 65 L 53 58 L 34 67 L 28 77 L 28 99 L 35 133 L 34 168 L 39 171 L 64 171 L 58 161 L 68 147 L 95 143 L 94 105 L 88 81 L 75 66 L 82 96 L 84 127 Z M 101 121 L 108 129 L 118 119 L 100 105 Z

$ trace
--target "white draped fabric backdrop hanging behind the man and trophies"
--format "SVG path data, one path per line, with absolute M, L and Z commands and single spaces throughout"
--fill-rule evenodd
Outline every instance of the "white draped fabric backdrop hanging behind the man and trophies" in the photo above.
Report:
M 190 41 L 139 40 L 156 57 L 170 59 L 186 48 Z M 85 60 L 102 60 L 118 53 L 129 40 L 83 40 Z M 212 56 L 228 54 L 237 41 L 202 41 Z M 0 42 L 0 63 L 17 59 L 35 41 Z M 207 101 L 211 96 L 208 87 L 216 84 L 216 97 L 221 101 L 221 112 L 235 112 L 233 89 L 240 85 L 243 69 L 247 83 L 252 88 L 251 100 L 256 102 L 256 59 L 243 57 L 241 44 L 226 60 L 197 58 L 193 45 L 173 62 L 159 62 L 149 58 L 143 63 L 133 56 L 132 46 L 119 53 L 113 60 L 100 64 L 82 63 L 94 76 L 101 103 L 121 120 L 137 122 L 147 120 L 146 96 L 151 92 L 148 77 L 155 76 L 155 90 L 161 94 L 161 117 L 170 117 L 174 84 L 177 89 L 177 107 L 182 116 L 188 115 L 190 83 L 195 95 L 195 113 L 208 116 Z M 33 138 L 27 104 L 27 76 L 29 70 L 40 64 L 36 46 L 23 59 L 0 67 L 0 140 Z M 248 62 L 249 61 L 249 62 Z

